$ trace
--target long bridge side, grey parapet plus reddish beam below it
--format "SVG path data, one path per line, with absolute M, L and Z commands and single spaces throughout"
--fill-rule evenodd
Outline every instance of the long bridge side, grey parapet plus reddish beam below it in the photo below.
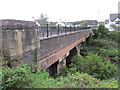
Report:
M 60 35 L 40 40 L 39 68 L 48 68 L 58 60 L 64 60 L 69 51 L 89 36 L 90 30 Z

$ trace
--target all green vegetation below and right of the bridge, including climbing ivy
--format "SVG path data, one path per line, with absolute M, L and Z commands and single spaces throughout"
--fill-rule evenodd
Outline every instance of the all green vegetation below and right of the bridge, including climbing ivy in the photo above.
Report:
M 118 88 L 117 64 L 118 32 L 109 32 L 103 25 L 93 29 L 94 36 L 88 38 L 86 46 L 81 50 L 82 56 L 75 56 L 69 68 L 60 71 L 56 78 L 50 77 L 45 70 L 32 71 L 26 64 L 15 68 L 0 62 L 2 87 L 11 88 Z M 37 42 L 36 42 L 37 45 Z M 37 64 L 37 46 L 35 63 Z M 113 62 L 116 63 L 113 63 Z M 35 65 L 36 65 L 35 64 Z

